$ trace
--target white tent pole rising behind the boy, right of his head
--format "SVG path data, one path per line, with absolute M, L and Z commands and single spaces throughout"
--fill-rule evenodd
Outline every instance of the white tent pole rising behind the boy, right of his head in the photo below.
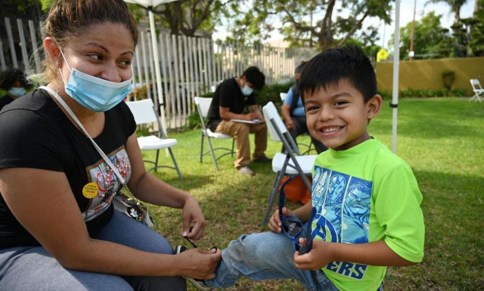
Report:
M 400 66 L 400 0 L 395 0 L 395 43 L 393 48 L 392 152 L 397 153 L 398 72 Z

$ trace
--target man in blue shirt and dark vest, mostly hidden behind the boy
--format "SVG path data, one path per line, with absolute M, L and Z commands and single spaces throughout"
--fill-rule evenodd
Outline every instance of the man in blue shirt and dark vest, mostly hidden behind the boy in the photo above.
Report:
M 304 63 L 297 66 L 294 70 L 294 79 L 296 80 L 296 83 L 292 85 L 291 88 L 289 88 L 289 91 L 287 92 L 287 96 L 284 99 L 284 103 L 282 104 L 281 108 L 282 118 L 284 119 L 286 127 L 289 130 L 289 133 L 291 134 L 294 141 L 296 140 L 296 137 L 298 135 L 304 133 L 309 134 L 308 126 L 306 125 L 306 112 L 304 110 L 304 105 L 302 104 L 302 100 L 299 95 L 299 90 L 297 89 L 297 87 L 299 86 L 299 78 L 303 66 Z M 328 149 L 312 136 L 311 141 L 316 147 L 316 151 L 318 152 L 318 154 Z M 284 146 L 282 147 L 282 151 L 284 151 Z

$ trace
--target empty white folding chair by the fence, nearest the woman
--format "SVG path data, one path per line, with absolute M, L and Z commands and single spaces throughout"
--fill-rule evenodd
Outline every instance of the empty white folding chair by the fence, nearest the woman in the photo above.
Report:
M 180 180 L 183 180 L 181 177 L 181 172 L 176 163 L 175 156 L 171 151 L 171 147 L 177 144 L 176 139 L 174 138 L 167 138 L 165 131 L 161 125 L 161 122 L 156 114 L 155 108 L 153 107 L 153 101 L 148 98 L 139 101 L 131 101 L 126 102 L 128 107 L 130 107 L 131 112 L 133 112 L 133 116 L 135 117 L 135 122 L 137 125 L 140 124 L 158 124 L 158 135 L 150 135 L 150 136 L 143 136 L 138 138 L 138 144 L 140 145 L 141 150 L 156 150 L 156 160 L 155 161 L 148 161 L 144 160 L 144 162 L 152 163 L 155 166 L 150 168 L 148 171 L 155 170 L 160 167 L 172 168 L 176 169 L 178 173 L 178 177 Z M 158 165 L 158 157 L 160 154 L 160 149 L 167 148 L 170 152 L 171 159 L 173 160 L 174 166 L 168 165 Z

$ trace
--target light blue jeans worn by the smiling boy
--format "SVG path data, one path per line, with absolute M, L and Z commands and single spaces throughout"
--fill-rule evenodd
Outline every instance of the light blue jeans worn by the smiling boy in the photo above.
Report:
M 306 234 L 307 223 L 303 228 L 302 234 Z M 284 234 L 274 232 L 242 235 L 222 250 L 215 279 L 205 282 L 211 287 L 226 288 L 233 286 L 241 276 L 253 280 L 292 278 L 306 290 L 338 291 L 323 271 L 296 269 L 291 244 Z M 383 287 L 380 286 L 378 291 L 383 291 Z

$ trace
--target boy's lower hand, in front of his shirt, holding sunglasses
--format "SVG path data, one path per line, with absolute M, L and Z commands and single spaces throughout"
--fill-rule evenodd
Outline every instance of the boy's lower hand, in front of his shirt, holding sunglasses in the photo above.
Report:
M 306 245 L 306 239 L 299 238 L 299 244 Z M 323 240 L 314 240 L 313 248 L 309 253 L 304 255 L 300 255 L 299 252 L 294 253 L 294 265 L 300 270 L 321 269 L 328 263 L 334 261 L 333 246 L 333 243 L 328 243 Z

